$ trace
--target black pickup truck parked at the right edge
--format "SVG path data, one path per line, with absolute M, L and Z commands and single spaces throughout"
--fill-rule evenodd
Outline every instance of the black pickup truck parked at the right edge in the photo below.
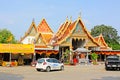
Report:
M 111 55 L 106 58 L 105 69 L 119 69 L 120 70 L 120 57 L 117 55 Z

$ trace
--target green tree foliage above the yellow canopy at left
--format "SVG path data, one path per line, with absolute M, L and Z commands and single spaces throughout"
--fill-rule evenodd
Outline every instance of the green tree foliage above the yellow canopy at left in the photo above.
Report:
M 0 43 L 17 43 L 17 41 L 9 30 L 0 29 Z

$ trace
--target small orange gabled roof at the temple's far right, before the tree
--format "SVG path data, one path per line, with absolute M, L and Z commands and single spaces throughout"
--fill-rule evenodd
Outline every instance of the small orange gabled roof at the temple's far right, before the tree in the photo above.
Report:
M 103 50 L 103 49 L 104 49 L 104 50 L 105 50 L 105 49 L 106 49 L 106 50 L 110 49 L 110 48 L 108 47 L 107 43 L 105 42 L 102 34 L 100 34 L 99 36 L 95 37 L 94 39 L 99 43 L 100 49 L 102 49 L 102 50 Z

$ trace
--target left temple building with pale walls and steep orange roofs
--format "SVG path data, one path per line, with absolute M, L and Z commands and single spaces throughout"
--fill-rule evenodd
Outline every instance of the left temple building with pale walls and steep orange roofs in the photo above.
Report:
M 34 44 L 36 59 L 47 56 L 55 57 L 58 54 L 58 50 L 53 49 L 50 45 L 53 35 L 53 31 L 45 19 L 42 19 L 38 26 L 33 20 L 28 31 L 20 39 L 20 43 Z

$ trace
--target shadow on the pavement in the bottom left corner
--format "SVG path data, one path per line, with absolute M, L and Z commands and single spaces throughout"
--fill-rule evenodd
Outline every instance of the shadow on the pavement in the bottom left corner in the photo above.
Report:
M 23 76 L 0 72 L 0 80 L 23 80 Z

